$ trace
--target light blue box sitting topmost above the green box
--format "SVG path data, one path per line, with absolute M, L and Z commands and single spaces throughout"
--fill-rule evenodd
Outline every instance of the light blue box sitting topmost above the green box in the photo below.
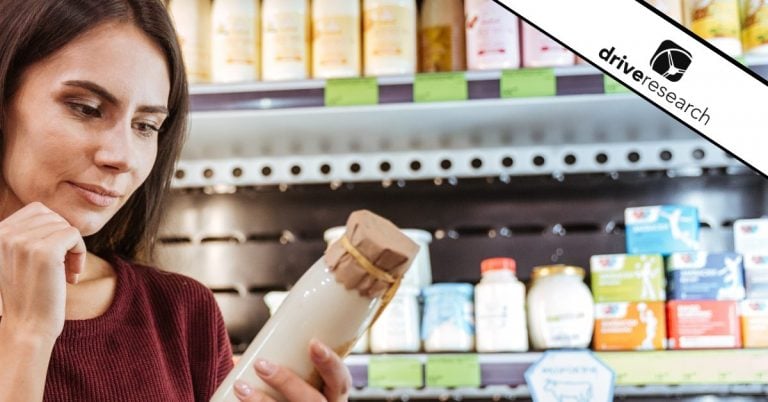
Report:
M 624 210 L 629 254 L 669 255 L 699 248 L 699 212 L 685 205 Z

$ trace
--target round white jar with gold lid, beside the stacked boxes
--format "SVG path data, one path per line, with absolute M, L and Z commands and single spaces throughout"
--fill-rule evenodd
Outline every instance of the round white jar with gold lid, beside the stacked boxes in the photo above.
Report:
M 528 292 L 528 330 L 534 349 L 586 348 L 595 325 L 595 303 L 584 269 L 535 267 Z

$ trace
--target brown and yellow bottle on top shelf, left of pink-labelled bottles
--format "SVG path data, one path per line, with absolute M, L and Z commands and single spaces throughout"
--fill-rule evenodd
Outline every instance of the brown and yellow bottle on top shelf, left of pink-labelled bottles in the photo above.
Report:
M 464 5 L 461 0 L 425 0 L 421 6 L 420 69 L 424 72 L 466 69 Z

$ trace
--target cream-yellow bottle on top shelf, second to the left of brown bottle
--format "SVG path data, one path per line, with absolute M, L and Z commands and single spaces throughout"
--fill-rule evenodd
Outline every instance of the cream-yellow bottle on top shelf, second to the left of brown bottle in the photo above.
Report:
M 312 1 L 312 76 L 359 77 L 361 74 L 360 2 Z

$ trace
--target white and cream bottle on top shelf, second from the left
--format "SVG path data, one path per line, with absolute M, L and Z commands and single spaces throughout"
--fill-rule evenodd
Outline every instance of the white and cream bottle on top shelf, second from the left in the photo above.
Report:
M 259 79 L 259 0 L 214 0 L 213 82 Z

